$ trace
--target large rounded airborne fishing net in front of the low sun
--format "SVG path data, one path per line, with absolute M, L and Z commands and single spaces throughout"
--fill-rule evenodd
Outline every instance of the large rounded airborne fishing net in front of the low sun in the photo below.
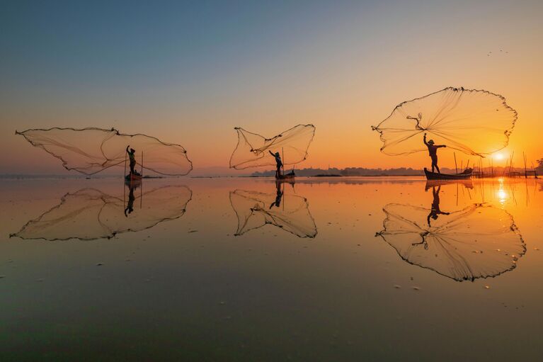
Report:
M 424 132 L 436 144 L 485 156 L 508 145 L 516 120 L 503 96 L 450 87 L 400 103 L 372 128 L 380 134 L 381 151 L 391 156 L 427 151 Z

